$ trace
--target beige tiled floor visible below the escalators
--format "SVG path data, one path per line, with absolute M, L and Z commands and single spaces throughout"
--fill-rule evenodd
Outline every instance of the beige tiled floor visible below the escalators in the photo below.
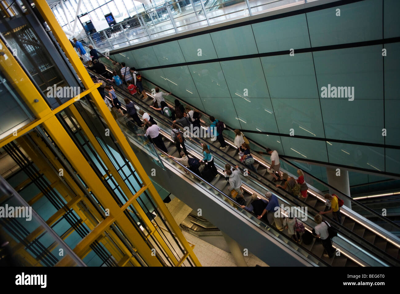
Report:
M 176 220 L 177 224 L 181 224 L 183 220 L 192 211 L 192 208 L 184 204 L 178 198 L 171 195 L 172 201 L 167 203 L 166 206 L 171 212 L 172 216 Z M 202 266 L 236 266 L 235 260 L 232 254 L 221 250 L 220 248 L 213 246 L 192 234 L 183 232 L 186 240 L 195 245 L 193 251 L 199 259 Z M 244 259 L 248 266 L 268 266 L 256 256 L 249 252 L 249 256 L 245 256 Z

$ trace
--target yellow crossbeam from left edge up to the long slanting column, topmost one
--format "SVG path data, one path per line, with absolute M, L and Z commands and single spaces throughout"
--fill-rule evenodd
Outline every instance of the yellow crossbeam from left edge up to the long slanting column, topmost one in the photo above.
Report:
M 50 118 L 50 117 L 54 116 L 55 114 L 57 114 L 58 112 L 64 110 L 65 108 L 70 106 L 72 103 L 78 101 L 80 98 L 86 96 L 87 94 L 89 94 L 93 90 L 97 89 L 99 86 L 100 86 L 100 84 L 96 83 L 90 89 L 85 90 L 81 94 L 78 94 L 74 98 L 72 98 L 72 99 L 68 100 L 67 102 L 65 102 L 64 104 L 58 106 L 56 109 L 50 110 L 50 112 L 48 114 L 46 114 L 43 118 L 36 119 L 33 122 L 30 122 L 29 124 L 27 124 L 26 126 L 23 126 L 22 128 L 20 128 L 19 130 L 16 131 L 16 136 L 14 136 L 14 133 L 6 136 L 2 140 L 0 140 L 0 148 L 3 147 L 4 145 L 10 143 L 11 141 L 15 140 L 16 138 L 20 138 L 22 135 L 26 134 L 27 132 L 29 132 L 33 128 L 36 128 L 38 125 L 42 124 L 48 118 Z

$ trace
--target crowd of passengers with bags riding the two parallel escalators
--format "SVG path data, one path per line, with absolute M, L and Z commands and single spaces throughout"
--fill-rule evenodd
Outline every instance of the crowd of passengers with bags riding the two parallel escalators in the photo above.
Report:
M 130 94 L 136 98 L 140 98 L 140 96 L 137 96 L 136 94 L 141 92 L 142 96 L 147 98 L 146 91 L 142 86 L 142 77 L 136 71 L 136 69 L 127 67 L 123 62 L 119 64 L 113 61 L 112 63 L 114 64 L 115 69 L 113 71 L 112 79 L 109 79 L 109 81 L 113 82 L 117 86 L 125 83 L 127 85 L 126 90 L 128 90 Z M 117 73 L 117 70 L 119 70 L 121 74 Z M 94 78 L 94 82 L 101 84 L 98 90 L 101 92 L 104 102 L 108 104 L 109 108 L 115 107 L 119 113 L 124 115 L 121 103 L 118 101 L 114 88 L 106 85 L 104 81 L 96 78 Z M 190 127 L 190 125 L 193 125 L 193 127 L 200 129 L 200 117 L 202 114 L 196 110 L 192 110 L 189 106 L 184 107 L 178 99 L 174 101 L 174 107 L 171 107 L 164 99 L 165 96 L 168 96 L 171 93 L 164 93 L 160 91 L 158 87 L 156 87 L 154 90 L 155 94 L 153 95 L 153 105 L 150 107 L 172 120 L 171 139 L 178 150 L 179 158 L 168 155 L 168 149 L 166 148 L 162 140 L 163 137 L 160 134 L 161 129 L 157 126 L 156 121 L 150 116 L 150 114 L 144 112 L 143 110 L 139 110 L 134 102 L 128 98 L 124 99 L 126 105 L 126 115 L 132 119 L 138 127 L 144 126 L 146 130 L 146 136 L 152 143 L 160 148 L 160 150 L 165 152 L 169 158 L 173 158 L 174 160 L 180 162 L 182 165 L 186 166 L 199 176 L 202 176 L 202 174 L 199 172 L 198 167 L 200 166 L 201 162 L 204 162 L 215 176 L 218 175 L 218 170 L 214 164 L 214 158 L 210 151 L 210 146 L 208 144 L 202 144 L 204 158 L 198 160 L 193 157 L 189 157 L 189 153 L 186 150 L 184 143 L 186 140 L 184 139 L 184 136 L 182 136 L 182 132 L 178 126 L 178 124 L 183 127 Z M 111 103 L 107 99 L 107 96 L 110 98 Z M 142 120 L 140 120 L 138 117 L 138 112 L 142 116 Z M 208 131 L 212 132 L 217 138 L 218 142 L 220 143 L 220 149 L 226 148 L 227 145 L 222 135 L 222 131 L 219 129 L 220 132 L 218 132 L 217 126 L 219 125 L 219 121 L 213 116 L 210 116 L 210 122 L 210 126 L 213 126 L 214 128 L 208 128 Z M 234 145 L 237 147 L 240 162 L 242 162 L 242 164 L 248 168 L 246 171 L 248 174 L 250 174 L 250 170 L 257 173 L 258 171 L 254 166 L 255 160 L 250 153 L 250 144 L 247 138 L 238 129 L 234 130 L 234 132 Z M 276 150 L 267 148 L 266 153 L 269 154 L 271 158 L 271 166 L 267 168 L 267 172 L 274 178 L 274 182 L 280 182 L 280 184 L 276 184 L 276 187 L 280 187 L 285 190 L 287 189 L 293 196 L 306 199 L 308 187 L 305 183 L 302 170 L 297 170 L 297 179 L 289 176 L 287 173 L 282 173 L 280 171 L 278 152 Z M 229 182 L 228 191 L 230 192 L 231 198 L 240 204 L 241 208 L 247 210 L 248 212 L 254 213 L 259 220 L 264 220 L 270 224 L 275 224 L 276 228 L 280 231 L 284 229 L 287 230 L 287 234 L 295 242 L 302 242 L 303 239 L 305 242 L 309 235 L 319 238 L 326 251 L 324 256 L 329 258 L 334 256 L 332 238 L 329 236 L 328 232 L 330 225 L 328 222 L 322 221 L 321 215 L 332 212 L 334 215 L 334 220 L 340 223 L 340 210 L 336 195 L 332 196 L 331 194 L 325 194 L 325 198 L 331 204 L 331 209 L 327 212 L 320 212 L 320 214 L 317 214 L 314 217 L 314 221 L 317 225 L 312 230 L 312 234 L 308 234 L 302 222 L 296 217 L 289 214 L 282 218 L 282 214 L 280 216 L 276 216 L 276 214 L 274 214 L 276 209 L 280 210 L 280 206 L 278 203 L 278 198 L 271 192 L 266 192 L 266 199 L 258 198 L 256 194 L 253 194 L 250 201 L 246 201 L 243 195 L 244 191 L 242 188 L 242 180 L 240 178 L 241 172 L 238 165 L 232 167 L 230 164 L 226 164 L 223 174 L 226 180 Z

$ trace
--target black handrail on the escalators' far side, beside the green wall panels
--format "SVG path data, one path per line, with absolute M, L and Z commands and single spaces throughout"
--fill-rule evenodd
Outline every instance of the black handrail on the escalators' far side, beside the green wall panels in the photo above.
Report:
M 98 53 L 100 53 L 100 52 L 98 52 Z M 102 54 L 102 53 L 100 53 L 100 54 L 101 54 L 104 58 L 108 58 L 108 56 L 105 56 L 105 55 Z M 110 59 L 110 58 L 108 58 L 108 59 Z M 142 77 L 142 78 L 143 78 L 144 80 L 146 80 L 146 81 L 148 81 L 148 82 L 154 84 L 154 83 L 151 82 L 150 80 L 148 80 L 148 79 L 146 79 L 146 78 L 144 78 L 144 77 Z M 164 90 L 165 92 L 169 92 L 169 91 L 166 91 L 164 88 L 162 88 L 162 87 L 160 87 L 160 86 L 158 86 L 158 88 L 160 88 L 161 90 Z M 203 115 L 205 115 L 205 116 L 208 117 L 208 114 L 206 114 L 205 112 L 203 112 L 203 111 L 199 110 L 198 108 L 194 107 L 192 104 L 190 104 L 190 103 L 188 103 L 188 102 L 182 100 L 182 99 L 179 98 L 179 97 L 176 97 L 176 96 L 174 96 L 174 97 L 175 97 L 176 99 L 180 100 L 181 102 L 184 102 L 184 104 L 189 105 L 191 108 L 196 109 L 197 112 L 199 112 L 199 113 L 201 113 L 201 114 L 203 114 Z M 231 127 L 228 126 L 227 124 L 225 124 L 225 126 L 226 126 L 226 128 L 227 128 L 228 130 L 230 130 L 231 132 L 233 132 L 233 130 L 234 130 L 233 128 L 231 128 Z M 252 142 L 252 144 L 256 145 L 257 147 L 262 148 L 262 149 L 266 149 L 266 147 L 264 147 L 264 146 L 258 144 L 258 143 L 255 142 L 254 140 L 252 140 L 252 139 L 250 139 L 250 138 L 247 138 L 247 139 L 248 139 L 250 142 Z M 257 151 L 254 151 L 254 152 L 258 153 Z M 294 168 L 296 168 L 296 169 L 300 169 L 300 168 L 299 168 L 298 166 L 296 166 L 295 164 L 292 164 L 291 162 L 289 162 L 288 160 L 286 160 L 285 156 L 280 156 L 280 159 L 281 159 L 281 158 L 282 158 L 282 160 L 283 160 L 286 164 L 288 164 L 288 165 L 290 165 L 290 166 L 292 166 L 292 167 L 294 167 Z M 235 160 L 236 162 L 238 162 L 238 160 L 237 160 L 236 158 L 234 158 L 234 160 Z M 351 197 L 348 196 L 347 194 L 341 192 L 341 191 L 338 190 L 337 188 L 335 188 L 335 187 L 331 186 L 330 184 L 328 184 L 328 183 L 326 183 L 326 182 L 320 180 L 319 178 L 314 177 L 312 174 L 309 174 L 309 173 L 306 172 L 306 171 L 303 171 L 303 173 L 306 174 L 307 176 L 309 176 L 310 178 L 313 178 L 314 180 L 316 180 L 316 181 L 319 182 L 320 184 L 326 186 L 327 188 L 329 188 L 329 189 L 335 191 L 336 193 L 340 194 L 341 196 L 344 196 L 346 199 L 350 200 L 351 202 L 354 202 L 354 204 L 356 204 L 356 205 L 362 207 L 364 210 L 367 210 L 368 212 L 372 213 L 374 216 L 380 218 L 381 220 L 387 222 L 388 224 L 390 224 L 390 225 L 392 225 L 392 226 L 394 226 L 395 228 L 398 228 L 398 229 L 400 230 L 400 225 L 396 224 L 396 223 L 393 222 L 392 220 L 389 220 L 388 218 L 385 218 L 385 217 L 382 216 L 381 214 L 378 214 L 378 213 L 375 212 L 374 210 L 368 208 L 367 206 L 365 206 L 364 204 L 358 202 L 357 200 L 354 200 L 353 198 L 351 198 Z

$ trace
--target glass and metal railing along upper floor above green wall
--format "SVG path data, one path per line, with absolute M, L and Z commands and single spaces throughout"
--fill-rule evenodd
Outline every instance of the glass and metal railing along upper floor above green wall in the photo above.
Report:
M 114 50 L 165 36 L 246 18 L 282 6 L 298 6 L 306 0 L 178 0 L 150 7 L 110 28 L 79 38 L 82 43 L 102 50 Z M 299 6 L 300 7 L 300 6 Z

